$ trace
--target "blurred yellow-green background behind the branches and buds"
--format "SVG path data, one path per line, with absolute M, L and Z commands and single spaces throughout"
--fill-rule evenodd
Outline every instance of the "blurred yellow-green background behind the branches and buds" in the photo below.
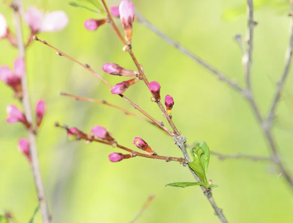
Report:
M 133 2 L 167 36 L 244 86 L 242 53 L 233 37 L 242 34 L 245 39 L 246 1 Z M 284 67 L 290 5 L 288 0 L 254 2 L 257 9 L 254 19 L 259 24 L 254 32 L 252 89 L 262 114 L 267 114 Z M 107 0 L 107 3 L 112 6 L 120 1 Z M 49 11 L 64 10 L 70 19 L 68 26 L 62 32 L 42 33 L 38 37 L 90 64 L 110 84 L 124 78 L 104 74 L 103 63 L 135 69 L 109 25 L 95 32 L 85 30 L 86 19 L 98 18 L 94 13 L 71 7 L 66 0 L 24 0 L 24 7 L 29 5 Z M 14 31 L 11 10 L 1 3 L 0 12 Z M 23 29 L 26 39 L 29 29 L 25 24 Z M 241 95 L 139 23 L 133 26 L 133 51 L 148 79 L 161 84 L 161 95 L 173 96 L 173 121 L 189 144 L 206 141 L 211 150 L 221 153 L 270 155 L 262 131 Z M 12 66 L 17 50 L 2 40 L 0 52 L 0 64 Z M 27 49 L 26 62 L 32 105 L 38 99 L 47 103 L 38 134 L 38 152 L 53 222 L 127 223 L 150 195 L 156 197 L 139 223 L 219 222 L 198 186 L 165 187 L 167 183 L 193 181 L 190 172 L 178 163 L 140 157 L 110 163 L 109 153 L 123 151 L 96 143 L 68 142 L 66 133 L 54 127 L 56 121 L 85 132 L 94 125 L 103 125 L 120 144 L 131 149 L 135 149 L 132 139 L 139 136 L 160 155 L 182 156 L 170 137 L 144 121 L 103 105 L 60 96 L 63 91 L 105 99 L 137 112 L 120 97 L 111 95 L 101 81 L 79 65 L 56 56 L 55 51 L 38 42 Z M 291 74 L 277 109 L 273 134 L 281 159 L 293 173 Z M 12 98 L 11 89 L 0 83 L 0 95 L 0 212 L 11 211 L 19 223 L 28 222 L 38 200 L 30 167 L 17 149 L 18 139 L 26 136 L 26 132 L 21 124 L 5 122 L 6 106 L 19 105 Z M 150 93 L 143 82 L 129 88 L 125 95 L 156 119 L 163 119 L 162 112 L 149 100 Z M 208 178 L 219 186 L 213 189 L 214 199 L 229 222 L 293 222 L 292 191 L 272 164 L 221 161 L 211 156 Z M 42 222 L 40 213 L 35 222 Z

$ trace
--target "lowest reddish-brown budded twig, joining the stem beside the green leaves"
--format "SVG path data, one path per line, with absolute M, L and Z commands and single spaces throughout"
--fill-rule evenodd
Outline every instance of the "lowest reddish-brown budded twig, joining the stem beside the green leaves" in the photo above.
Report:
M 66 130 L 67 132 L 70 132 L 70 129 L 66 125 L 60 126 L 58 123 L 55 123 L 55 126 L 60 127 L 64 130 Z M 71 132 L 71 133 L 74 134 L 73 132 Z M 127 152 L 132 153 L 134 156 L 141 156 L 141 157 L 145 157 L 145 158 L 149 158 L 149 159 L 156 159 L 156 160 L 165 160 L 166 162 L 175 161 L 175 162 L 179 162 L 179 163 L 186 163 L 186 160 L 183 158 L 177 158 L 177 157 L 171 157 L 171 156 L 159 156 L 157 154 L 149 154 L 149 153 L 141 153 L 141 152 L 137 152 L 133 149 L 128 149 L 127 147 L 121 146 L 121 145 L 117 144 L 117 142 L 109 142 L 106 140 L 93 138 L 89 135 L 83 135 L 80 139 L 83 139 L 87 142 L 97 142 L 97 143 L 117 147 L 119 149 L 123 149 Z

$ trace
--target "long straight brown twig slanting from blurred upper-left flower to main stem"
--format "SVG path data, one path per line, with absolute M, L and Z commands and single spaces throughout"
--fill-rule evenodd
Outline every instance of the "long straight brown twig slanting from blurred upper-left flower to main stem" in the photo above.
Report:
M 81 65 L 82 67 L 84 67 L 86 70 L 88 70 L 89 72 L 91 72 L 92 74 L 94 74 L 96 77 L 98 77 L 103 83 L 105 83 L 109 88 L 112 88 L 112 86 L 105 81 L 99 74 L 97 74 L 96 72 L 93 71 L 93 69 L 90 68 L 90 66 L 88 64 L 83 64 L 80 61 L 72 58 L 71 56 L 68 56 L 67 54 L 63 53 L 62 51 L 58 50 L 57 48 L 55 48 L 54 46 L 50 45 L 49 43 L 47 43 L 45 40 L 41 40 L 39 39 L 37 36 L 34 36 L 34 39 L 42 42 L 43 44 L 45 44 L 46 46 L 54 49 L 57 51 L 57 55 L 59 56 L 64 56 L 70 60 L 72 60 L 73 62 Z M 149 118 L 156 126 L 160 127 L 161 129 L 163 129 L 164 131 L 166 131 L 166 133 L 170 136 L 172 136 L 172 132 L 170 130 L 168 130 L 161 122 L 157 121 L 156 119 L 154 119 L 152 116 L 150 116 L 148 113 L 146 113 L 146 111 L 144 111 L 143 109 L 141 109 L 137 104 L 133 103 L 131 100 L 129 100 L 126 96 L 124 96 L 123 94 L 118 94 L 120 97 L 122 97 L 124 100 L 126 100 L 129 104 L 131 104 L 134 108 L 136 108 L 138 111 L 140 111 L 142 114 L 144 114 L 147 118 Z

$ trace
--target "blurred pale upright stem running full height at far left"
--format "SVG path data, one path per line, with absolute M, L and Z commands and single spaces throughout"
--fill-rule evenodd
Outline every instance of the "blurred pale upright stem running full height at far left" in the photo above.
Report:
M 13 0 L 18 50 L 19 50 L 19 55 L 24 58 L 25 52 L 24 52 L 24 46 L 22 42 L 21 17 L 20 17 L 20 11 L 19 11 L 21 7 L 22 7 L 21 0 Z M 23 91 L 23 99 L 22 99 L 23 110 L 25 112 L 27 121 L 29 123 L 32 123 L 32 111 L 31 111 L 30 98 L 29 98 L 27 82 L 26 82 L 26 74 L 23 74 L 23 77 L 21 79 L 21 85 L 22 85 L 22 91 Z M 48 204 L 47 204 L 47 200 L 45 196 L 45 190 L 42 183 L 41 170 L 40 170 L 39 160 L 38 160 L 36 136 L 30 130 L 28 130 L 27 133 L 28 133 L 28 140 L 30 142 L 31 167 L 32 167 L 33 175 L 34 175 L 35 186 L 38 193 L 38 199 L 40 202 L 42 220 L 43 220 L 43 223 L 50 223 L 51 215 L 49 212 L 49 208 L 48 208 Z

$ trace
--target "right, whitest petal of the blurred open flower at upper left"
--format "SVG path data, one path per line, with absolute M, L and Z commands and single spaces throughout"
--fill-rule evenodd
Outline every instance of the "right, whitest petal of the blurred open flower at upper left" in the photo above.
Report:
M 40 32 L 58 32 L 68 24 L 68 17 L 63 11 L 46 13 L 42 21 Z

